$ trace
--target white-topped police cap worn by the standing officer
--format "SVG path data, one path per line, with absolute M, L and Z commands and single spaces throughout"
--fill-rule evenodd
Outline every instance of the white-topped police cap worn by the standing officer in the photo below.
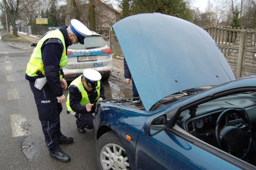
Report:
M 84 25 L 82 22 L 72 19 L 70 28 L 74 34 L 76 34 L 78 38 L 78 42 L 84 44 L 84 38 L 87 36 L 91 36 L 92 32 Z

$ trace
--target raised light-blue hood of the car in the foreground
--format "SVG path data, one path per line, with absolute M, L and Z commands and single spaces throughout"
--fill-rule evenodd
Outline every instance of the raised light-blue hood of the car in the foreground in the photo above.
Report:
M 186 20 L 138 14 L 113 28 L 147 111 L 179 91 L 236 79 L 212 37 Z

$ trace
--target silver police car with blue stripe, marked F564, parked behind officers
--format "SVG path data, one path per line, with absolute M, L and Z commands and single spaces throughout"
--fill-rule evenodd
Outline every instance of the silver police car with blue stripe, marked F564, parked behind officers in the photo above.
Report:
M 112 51 L 100 34 L 84 39 L 84 44 L 72 44 L 68 47 L 68 64 L 63 68 L 65 79 L 72 81 L 83 74 L 84 69 L 94 69 L 106 80 L 112 73 Z

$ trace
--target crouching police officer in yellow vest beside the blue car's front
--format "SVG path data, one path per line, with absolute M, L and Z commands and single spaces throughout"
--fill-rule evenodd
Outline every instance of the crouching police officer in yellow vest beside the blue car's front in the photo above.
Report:
M 67 108 L 76 117 L 77 130 L 85 133 L 92 129 L 96 103 L 105 99 L 101 75 L 93 69 L 85 69 L 83 75 L 77 77 L 68 87 Z

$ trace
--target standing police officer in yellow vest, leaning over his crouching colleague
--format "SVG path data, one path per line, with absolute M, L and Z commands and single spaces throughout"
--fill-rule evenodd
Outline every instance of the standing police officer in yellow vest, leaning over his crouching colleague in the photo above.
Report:
M 69 162 L 70 157 L 59 144 L 73 142 L 73 138 L 64 136 L 60 131 L 61 103 L 65 102 L 62 88 L 68 86 L 62 68 L 68 63 L 67 47 L 78 42 L 84 44 L 84 38 L 90 35 L 84 24 L 73 19 L 70 26 L 62 26 L 43 36 L 27 64 L 25 77 L 34 94 L 46 147 L 50 156 L 62 162 Z

